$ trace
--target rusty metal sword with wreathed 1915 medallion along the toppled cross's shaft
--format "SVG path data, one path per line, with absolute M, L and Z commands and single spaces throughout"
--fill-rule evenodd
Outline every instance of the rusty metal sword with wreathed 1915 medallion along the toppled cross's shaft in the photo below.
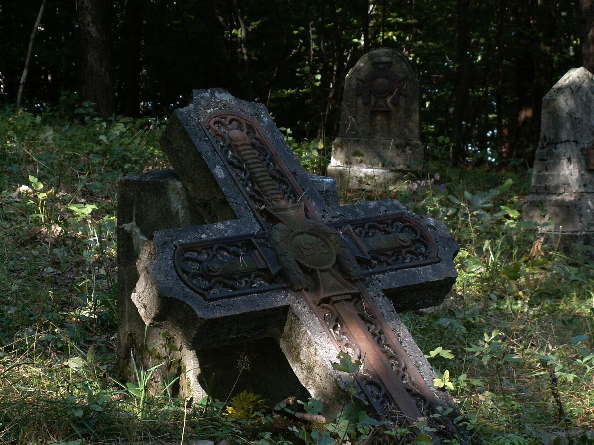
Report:
M 205 122 L 208 123 L 208 116 Z M 212 128 L 210 126 L 205 131 L 211 131 Z M 348 339 L 351 348 L 359 351 L 359 357 L 355 359 L 360 358 L 364 363 L 364 372 L 381 382 L 403 420 L 410 425 L 426 418 L 416 405 L 415 399 L 407 392 L 407 385 L 402 381 L 403 376 L 394 372 L 393 364 L 382 351 L 378 339 L 372 336 L 369 327 L 355 309 L 356 303 L 362 302 L 362 295 L 365 294 L 364 285 L 361 283 L 363 274 L 354 253 L 343 239 L 343 234 L 320 222 L 317 214 L 306 218 L 303 204 L 287 202 L 260 159 L 258 151 L 252 147 L 257 142 L 249 137 L 248 125 L 240 130 L 233 128 L 232 123 L 229 123 L 226 129 L 225 139 L 229 141 L 228 147 L 232 147 L 244 161 L 254 185 L 260 189 L 264 198 L 273 203 L 262 210 L 264 218 L 267 216 L 268 221 L 273 224 L 267 237 L 273 240 L 273 250 L 282 269 L 280 272 L 290 282 L 294 291 L 309 292 L 307 301 L 321 321 L 324 321 L 324 317 L 320 313 L 320 304 L 324 304 L 326 308 L 333 307 L 342 327 L 342 336 Z M 255 130 L 258 130 L 257 127 Z M 217 132 L 220 134 L 220 130 L 214 133 Z M 220 135 L 219 138 L 222 139 Z M 268 150 L 274 148 L 268 147 Z M 317 217 L 315 220 L 314 216 Z M 403 242 L 402 234 L 386 236 L 383 239 L 383 243 L 388 245 L 399 242 Z M 366 306 L 363 306 L 365 313 L 367 310 L 375 313 L 382 332 L 387 323 L 383 320 L 381 311 L 375 307 L 371 298 L 366 298 Z M 330 329 L 327 332 L 340 352 L 349 352 L 337 341 L 336 332 Z M 394 336 L 391 336 L 388 343 L 391 348 L 402 351 Z M 412 363 L 406 363 L 403 369 L 425 395 L 425 402 L 436 403 L 435 396 L 426 386 L 416 367 Z M 364 383 L 359 381 L 359 385 L 363 386 Z M 380 406 L 376 406 L 376 409 L 384 418 L 390 417 Z M 437 436 L 430 434 L 435 443 L 440 442 Z

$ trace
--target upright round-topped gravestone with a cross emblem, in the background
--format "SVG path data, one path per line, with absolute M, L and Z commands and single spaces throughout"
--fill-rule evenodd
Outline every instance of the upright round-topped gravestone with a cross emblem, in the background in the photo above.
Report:
M 328 176 L 341 189 L 384 190 L 422 160 L 416 73 L 395 49 L 366 53 L 345 79 Z

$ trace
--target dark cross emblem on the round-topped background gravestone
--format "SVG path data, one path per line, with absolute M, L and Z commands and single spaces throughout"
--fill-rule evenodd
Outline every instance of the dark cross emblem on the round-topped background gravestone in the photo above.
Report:
M 371 111 L 391 111 L 388 102 L 399 105 L 400 96 L 406 96 L 406 76 L 397 78 L 390 71 L 391 61 L 373 62 L 373 69 L 364 78 L 357 78 L 355 94 L 363 97 L 363 103 L 372 103 Z

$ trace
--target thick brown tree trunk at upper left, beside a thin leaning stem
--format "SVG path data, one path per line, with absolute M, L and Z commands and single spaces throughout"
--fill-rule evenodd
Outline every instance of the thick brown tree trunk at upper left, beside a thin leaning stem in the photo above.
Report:
M 107 7 L 103 0 L 76 0 L 83 56 L 83 100 L 96 103 L 100 116 L 113 114 L 113 85 L 109 65 Z

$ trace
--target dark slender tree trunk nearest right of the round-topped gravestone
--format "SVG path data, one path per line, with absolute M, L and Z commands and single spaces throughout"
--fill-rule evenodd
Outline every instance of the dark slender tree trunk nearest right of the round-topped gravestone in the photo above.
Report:
M 469 55 L 468 0 L 458 0 L 458 59 L 460 71 L 456 85 L 456 101 L 454 102 L 451 161 L 454 166 L 466 158 L 466 144 L 463 141 L 463 121 L 468 106 L 468 82 L 470 80 L 471 63 Z

